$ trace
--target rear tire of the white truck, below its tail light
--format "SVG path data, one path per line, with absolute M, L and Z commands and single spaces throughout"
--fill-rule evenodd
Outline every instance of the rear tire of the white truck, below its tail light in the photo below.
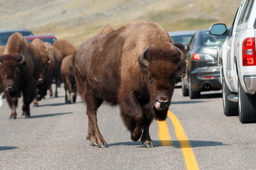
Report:
M 238 78 L 238 108 L 241 123 L 256 123 L 256 94 L 244 92 Z

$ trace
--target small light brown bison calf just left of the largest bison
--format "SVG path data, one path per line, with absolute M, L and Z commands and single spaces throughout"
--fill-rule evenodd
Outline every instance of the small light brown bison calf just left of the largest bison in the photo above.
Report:
M 74 64 L 75 64 L 75 56 L 69 55 L 62 60 L 61 64 L 61 76 L 64 81 L 65 88 L 65 102 L 71 103 L 71 97 L 73 102 L 76 102 L 76 80 L 74 76 Z M 69 96 L 67 97 L 67 91 Z

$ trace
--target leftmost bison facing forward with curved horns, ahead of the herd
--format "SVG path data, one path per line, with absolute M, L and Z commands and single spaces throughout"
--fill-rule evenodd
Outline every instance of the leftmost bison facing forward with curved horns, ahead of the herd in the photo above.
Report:
M 4 55 L 0 56 L 0 65 L 6 101 L 12 109 L 10 119 L 17 117 L 20 92 L 23 96 L 22 116 L 29 117 L 29 104 L 35 98 L 36 82 L 43 68 L 38 49 L 16 32 L 8 39 Z

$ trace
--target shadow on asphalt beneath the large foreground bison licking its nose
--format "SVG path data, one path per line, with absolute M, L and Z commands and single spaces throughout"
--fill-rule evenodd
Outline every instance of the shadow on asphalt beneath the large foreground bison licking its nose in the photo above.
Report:
M 162 141 L 164 143 L 169 141 Z M 180 142 L 187 142 L 187 141 L 172 141 L 172 145 L 170 147 L 180 148 Z M 213 141 L 189 141 L 191 147 L 207 147 L 207 146 L 225 146 L 230 144 L 223 144 L 222 142 L 213 142 Z M 161 141 L 153 141 L 154 147 L 160 147 Z M 118 142 L 108 144 L 108 146 L 118 146 L 118 145 L 129 145 L 129 146 L 139 146 L 142 147 L 142 142 Z

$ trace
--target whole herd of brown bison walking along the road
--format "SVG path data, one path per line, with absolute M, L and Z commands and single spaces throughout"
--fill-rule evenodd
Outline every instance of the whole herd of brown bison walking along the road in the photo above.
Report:
M 115 30 L 104 26 L 79 49 L 67 40 L 53 45 L 35 39 L 32 43 L 14 33 L 0 47 L 0 93 L 4 91 L 16 119 L 17 99 L 23 97 L 22 116 L 29 117 L 29 105 L 38 106 L 55 80 L 62 80 L 65 102 L 76 102 L 77 93 L 86 103 L 91 146 L 108 147 L 96 112 L 103 102 L 119 105 L 131 140 L 141 139 L 153 147 L 149 126 L 163 121 L 171 104 L 175 81 L 185 62 L 183 47 L 157 23 L 137 21 Z M 68 94 L 67 94 L 68 91 Z

